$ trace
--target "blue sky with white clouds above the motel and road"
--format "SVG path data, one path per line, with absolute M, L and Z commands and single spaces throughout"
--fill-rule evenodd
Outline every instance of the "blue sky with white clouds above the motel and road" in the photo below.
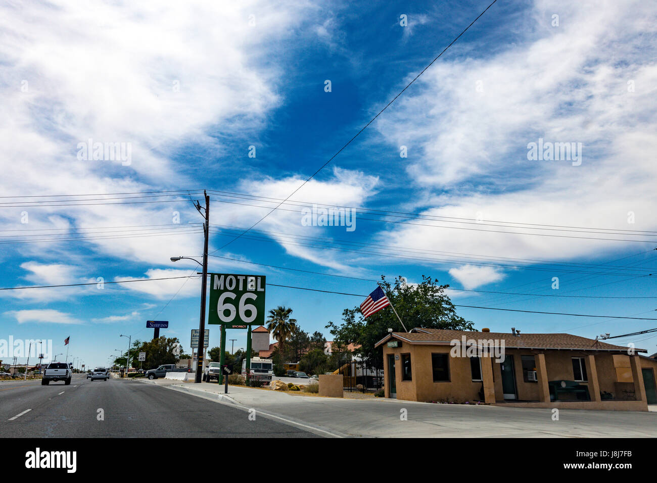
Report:
M 195 272 L 194 262 L 170 262 L 202 251 L 202 235 L 182 226 L 201 221 L 185 196 L 29 207 L 58 198 L 19 196 L 213 190 L 210 251 L 217 250 L 231 239 L 221 227 L 248 227 L 269 211 L 250 205 L 271 209 L 264 197 L 290 195 L 487 5 L 92 1 L 79 11 L 63 1 L 6 3 L 0 191 L 7 198 L 0 222 L 1 241 L 12 243 L 0 248 L 0 286 Z M 210 258 L 210 271 L 261 273 L 269 283 L 354 294 L 368 294 L 374 283 L 248 262 L 362 279 L 401 275 L 408 283 L 432 275 L 455 289 L 530 294 L 450 290 L 455 304 L 654 317 L 654 299 L 636 297 L 657 295 L 652 277 L 640 276 L 651 273 L 657 256 L 650 252 L 654 237 L 645 233 L 657 230 L 655 16 L 638 1 L 499 0 L 290 198 L 297 204 L 258 224 L 267 233 L 215 253 L 242 262 Z M 79 143 L 90 138 L 129 143 L 130 163 L 78 159 Z M 581 163 L 529 160 L 528 145 L 539 139 L 581 143 Z M 400 156 L 402 146 L 407 157 Z M 424 216 L 359 213 L 355 230 L 347 231 L 302 225 L 303 203 Z M 111 233 L 101 239 L 94 229 Z M 168 230 L 180 232 L 162 235 Z M 71 233 L 85 234 L 61 240 Z M 34 242 L 37 235 L 54 241 Z M 346 244 L 357 250 L 343 250 Z M 51 339 L 57 354 L 70 335 L 70 354 L 101 365 L 127 345 L 120 334 L 147 339 L 146 321 L 158 319 L 170 321 L 162 334 L 179 337 L 189 350 L 199 292 L 197 279 L 4 290 L 0 338 Z M 302 329 L 329 339 L 327 322 L 360 302 L 267 288 L 267 308 L 290 306 Z M 595 337 L 656 325 L 458 311 L 492 331 Z M 233 332 L 235 347 L 243 347 L 245 332 Z M 617 342 L 652 353 L 657 337 Z M 218 343 L 211 327 L 210 346 Z

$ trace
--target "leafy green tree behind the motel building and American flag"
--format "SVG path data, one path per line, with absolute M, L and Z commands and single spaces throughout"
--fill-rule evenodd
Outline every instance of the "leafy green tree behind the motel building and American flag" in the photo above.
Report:
M 420 327 L 425 329 L 448 329 L 470 331 L 472 322 L 466 321 L 456 313 L 456 308 L 445 294 L 449 285 L 440 285 L 438 279 L 422 275 L 422 282 L 409 285 L 403 277 L 397 277 L 391 285 L 384 276 L 381 285 L 388 299 L 395 306 L 399 317 L 407 329 Z M 404 332 L 394 311 L 384 308 L 373 315 L 363 318 L 359 307 L 342 311 L 341 325 L 329 322 L 326 326 L 334 336 L 334 345 L 360 346 L 355 350 L 370 363 L 382 365 L 380 348 L 374 349 L 374 344 L 393 332 Z

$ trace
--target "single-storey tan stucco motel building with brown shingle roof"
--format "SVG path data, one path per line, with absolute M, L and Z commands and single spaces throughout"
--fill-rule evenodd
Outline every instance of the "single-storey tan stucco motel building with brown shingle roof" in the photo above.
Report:
M 413 329 L 383 350 L 386 398 L 647 411 L 657 360 L 571 334 Z

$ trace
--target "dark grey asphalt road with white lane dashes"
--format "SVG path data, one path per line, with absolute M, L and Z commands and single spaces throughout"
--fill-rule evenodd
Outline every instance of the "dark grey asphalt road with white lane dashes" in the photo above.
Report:
M 102 411 L 99 411 L 102 409 Z M 99 413 L 103 419 L 99 421 Z M 304 438 L 315 434 L 135 380 L 0 382 L 0 437 Z

